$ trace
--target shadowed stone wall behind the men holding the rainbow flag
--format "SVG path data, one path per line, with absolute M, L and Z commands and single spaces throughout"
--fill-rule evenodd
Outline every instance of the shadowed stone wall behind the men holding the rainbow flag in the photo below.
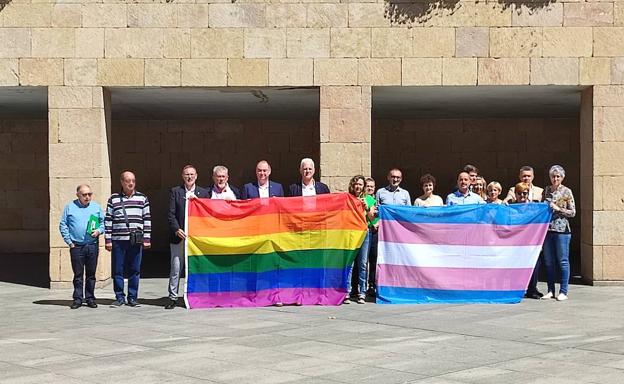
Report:
M 112 188 L 118 188 L 122 170 L 135 171 L 137 189 L 150 199 L 154 250 L 167 251 L 169 189 L 181 184 L 184 165 L 195 165 L 197 184 L 208 186 L 212 168 L 223 164 L 230 183 L 241 188 L 256 179 L 256 163 L 266 159 L 271 179 L 287 187 L 300 179 L 303 157 L 318 168 L 318 131 L 318 120 L 114 121 Z

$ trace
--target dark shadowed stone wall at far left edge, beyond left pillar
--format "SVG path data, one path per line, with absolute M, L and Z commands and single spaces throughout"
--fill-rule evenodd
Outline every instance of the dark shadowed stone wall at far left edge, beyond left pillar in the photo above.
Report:
M 0 252 L 48 252 L 47 143 L 45 120 L 0 120 Z

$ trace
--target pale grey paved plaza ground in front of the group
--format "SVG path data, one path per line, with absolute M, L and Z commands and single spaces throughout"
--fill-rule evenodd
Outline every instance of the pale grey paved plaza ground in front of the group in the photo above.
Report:
M 70 310 L 0 283 L 1 383 L 624 383 L 624 287 L 517 305 Z M 545 290 L 541 286 L 542 291 Z

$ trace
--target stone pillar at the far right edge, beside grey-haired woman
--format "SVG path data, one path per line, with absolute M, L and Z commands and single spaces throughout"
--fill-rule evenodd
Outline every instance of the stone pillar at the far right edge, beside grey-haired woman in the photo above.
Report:
M 581 101 L 583 276 L 624 283 L 624 86 L 594 86 Z

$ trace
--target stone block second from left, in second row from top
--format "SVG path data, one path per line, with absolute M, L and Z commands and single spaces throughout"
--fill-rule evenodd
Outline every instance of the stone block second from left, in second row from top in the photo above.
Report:
M 73 57 L 76 40 L 73 28 L 33 28 L 33 57 Z

